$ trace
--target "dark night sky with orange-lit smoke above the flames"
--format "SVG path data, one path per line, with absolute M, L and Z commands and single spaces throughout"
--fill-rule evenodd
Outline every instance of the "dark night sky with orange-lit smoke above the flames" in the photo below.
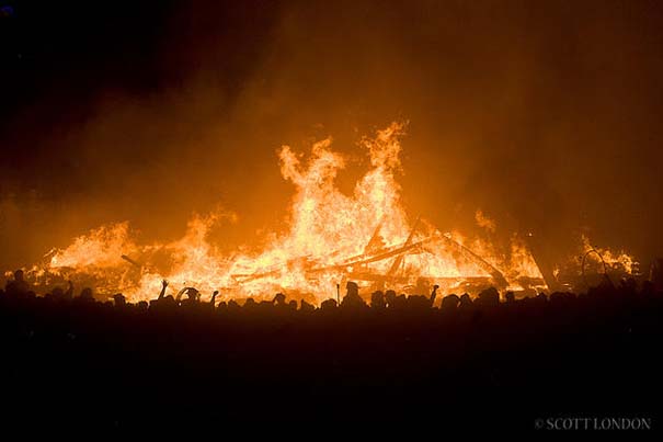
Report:
M 350 191 L 357 139 L 393 120 L 413 216 L 663 256 L 658 1 L 2 5 L 2 267 L 106 222 L 174 237 L 217 204 L 239 215 L 222 245 L 255 241 L 292 197 L 281 145 L 332 135 Z

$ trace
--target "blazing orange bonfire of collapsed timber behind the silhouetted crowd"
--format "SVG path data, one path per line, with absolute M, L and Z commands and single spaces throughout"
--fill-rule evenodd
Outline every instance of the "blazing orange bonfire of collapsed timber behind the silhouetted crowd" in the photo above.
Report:
M 336 287 L 350 280 L 369 287 L 367 292 L 424 293 L 432 284 L 469 293 L 489 285 L 513 291 L 551 286 L 555 271 L 541 272 L 526 238 L 512 236 L 511 250 L 499 252 L 478 239 L 442 233 L 424 219 L 410 222 L 396 180 L 403 129 L 403 124 L 392 123 L 362 139 L 370 169 L 352 195 L 334 185 L 345 160 L 331 149 L 331 139 L 313 144 L 307 161 L 284 146 L 281 171 L 296 188 L 289 230 L 261 251 L 220 253 L 207 233 L 232 215 L 216 212 L 194 216 L 183 238 L 165 243 L 136 243 L 128 223 L 102 226 L 62 250 L 52 250 L 27 275 L 46 288 L 72 279 L 101 295 L 122 292 L 133 301 L 155 297 L 163 279 L 174 291 L 196 286 L 210 295 L 219 290 L 225 298 L 286 291 L 316 303 L 335 297 Z M 494 229 L 480 212 L 477 222 Z M 627 256 L 611 262 L 630 264 Z

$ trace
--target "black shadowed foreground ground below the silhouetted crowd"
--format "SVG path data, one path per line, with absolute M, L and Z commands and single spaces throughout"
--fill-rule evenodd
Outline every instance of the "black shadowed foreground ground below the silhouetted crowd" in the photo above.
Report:
M 552 429 L 570 426 L 560 418 L 599 419 L 575 423 L 582 431 L 606 418 L 663 427 L 663 294 L 651 287 L 445 309 L 158 307 L 0 292 L 3 428 L 573 431 Z

